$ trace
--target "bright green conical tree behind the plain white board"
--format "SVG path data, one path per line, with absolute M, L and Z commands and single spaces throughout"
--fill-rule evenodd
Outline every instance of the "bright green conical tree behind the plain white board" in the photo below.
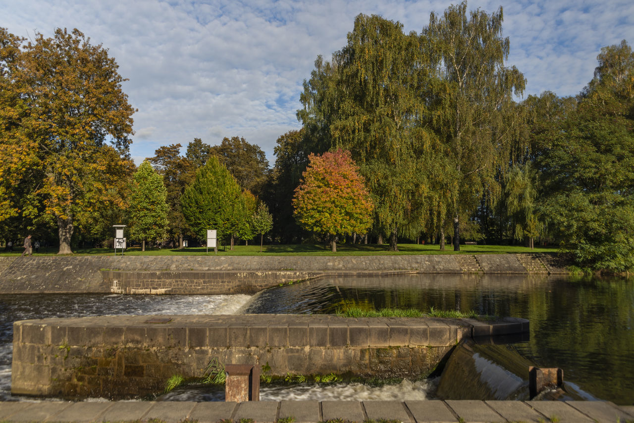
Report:
M 209 229 L 217 230 L 219 239 L 230 238 L 235 216 L 243 215 L 244 202 L 238 182 L 216 156 L 198 169 L 181 197 L 185 221 L 200 240 L 206 239 Z

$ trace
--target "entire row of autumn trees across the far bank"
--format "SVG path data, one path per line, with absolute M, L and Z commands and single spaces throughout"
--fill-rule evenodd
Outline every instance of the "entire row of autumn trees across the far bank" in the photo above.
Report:
M 267 234 L 333 249 L 471 240 L 559 245 L 581 266 L 634 268 L 630 46 L 603 48 L 577 96 L 517 101 L 526 81 L 505 64 L 502 20 L 501 8 L 462 3 L 405 34 L 358 15 L 346 45 L 315 61 L 302 129 L 278 138 L 272 169 L 234 136 L 162 146 L 137 170 L 134 109 L 107 51 L 76 30 L 28 43 L 1 30 L 0 236 L 36 232 L 60 252 L 110 239 L 119 223 L 172 247 L 212 228 L 230 247 Z M 163 188 L 143 188 L 153 172 Z M 148 207 L 158 197 L 166 207 Z M 148 208 L 153 218 L 139 214 Z

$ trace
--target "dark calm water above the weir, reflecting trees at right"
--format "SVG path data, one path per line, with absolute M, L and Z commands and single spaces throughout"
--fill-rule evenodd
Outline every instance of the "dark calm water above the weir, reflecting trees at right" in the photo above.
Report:
M 518 275 L 331 278 L 269 289 L 245 313 L 335 313 L 347 306 L 475 310 L 530 320 L 514 348 L 600 400 L 634 403 L 634 280 Z

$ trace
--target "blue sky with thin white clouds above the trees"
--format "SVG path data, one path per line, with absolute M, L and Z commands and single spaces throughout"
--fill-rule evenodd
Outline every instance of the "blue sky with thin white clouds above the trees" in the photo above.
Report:
M 456 4 L 457 2 L 453 2 Z M 133 115 L 136 164 L 157 148 L 194 138 L 217 145 L 242 136 L 271 164 L 277 138 L 301 124 L 302 82 L 318 55 L 346 44 L 359 13 L 381 15 L 420 31 L 447 1 L 395 0 L 0 0 L 0 27 L 34 39 L 77 28 L 103 44 L 129 79 L 122 88 Z M 469 9 L 503 8 L 507 65 L 526 77 L 524 98 L 578 94 L 592 79 L 604 46 L 634 43 L 631 0 L 469 1 Z

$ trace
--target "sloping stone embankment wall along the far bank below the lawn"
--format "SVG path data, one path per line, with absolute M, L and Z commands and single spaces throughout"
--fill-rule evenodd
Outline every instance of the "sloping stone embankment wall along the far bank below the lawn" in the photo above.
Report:
M 567 273 L 550 254 L 0 257 L 0 294 L 235 294 L 323 274 Z

